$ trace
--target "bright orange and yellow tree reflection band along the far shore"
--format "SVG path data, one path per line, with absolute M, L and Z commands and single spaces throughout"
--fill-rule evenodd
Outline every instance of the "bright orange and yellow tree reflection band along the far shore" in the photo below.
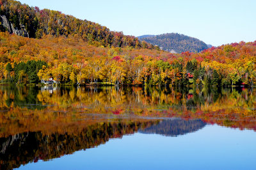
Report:
M 41 127 L 47 129 L 56 124 L 58 128 L 60 124 L 88 119 L 86 114 L 201 119 L 207 123 L 256 130 L 255 98 L 255 88 L 90 86 L 47 90 L 0 86 L 0 123 L 4 127 L 0 135 L 13 135 L 28 129 L 37 132 Z

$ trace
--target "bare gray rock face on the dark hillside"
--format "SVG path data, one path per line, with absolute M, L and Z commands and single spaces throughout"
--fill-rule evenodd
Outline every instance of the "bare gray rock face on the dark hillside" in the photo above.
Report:
M 20 29 L 17 29 L 17 27 L 14 27 L 13 24 L 9 22 L 5 15 L 0 15 L 0 22 L 9 33 L 29 37 L 28 31 L 25 29 L 24 25 L 20 24 Z

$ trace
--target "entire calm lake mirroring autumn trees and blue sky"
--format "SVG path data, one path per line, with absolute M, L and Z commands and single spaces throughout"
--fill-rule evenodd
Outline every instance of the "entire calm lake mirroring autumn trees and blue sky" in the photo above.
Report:
M 255 169 L 255 88 L 0 86 L 0 169 Z

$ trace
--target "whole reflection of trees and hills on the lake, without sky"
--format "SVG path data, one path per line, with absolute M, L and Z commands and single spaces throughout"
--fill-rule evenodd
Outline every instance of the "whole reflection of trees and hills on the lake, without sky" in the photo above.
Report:
M 207 123 L 256 130 L 255 96 L 252 88 L 0 86 L 0 168 L 138 131 L 177 136 Z

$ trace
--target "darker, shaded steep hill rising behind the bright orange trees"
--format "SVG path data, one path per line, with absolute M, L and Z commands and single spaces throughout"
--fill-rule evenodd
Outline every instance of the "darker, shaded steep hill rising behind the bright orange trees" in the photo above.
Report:
M 53 10 L 40 10 L 19 1 L 0 0 L 0 31 L 29 38 L 42 38 L 45 35 L 76 35 L 95 46 L 136 47 L 153 49 L 154 46 L 140 42 L 134 36 L 122 32 L 109 31 L 95 22 L 77 19 Z

